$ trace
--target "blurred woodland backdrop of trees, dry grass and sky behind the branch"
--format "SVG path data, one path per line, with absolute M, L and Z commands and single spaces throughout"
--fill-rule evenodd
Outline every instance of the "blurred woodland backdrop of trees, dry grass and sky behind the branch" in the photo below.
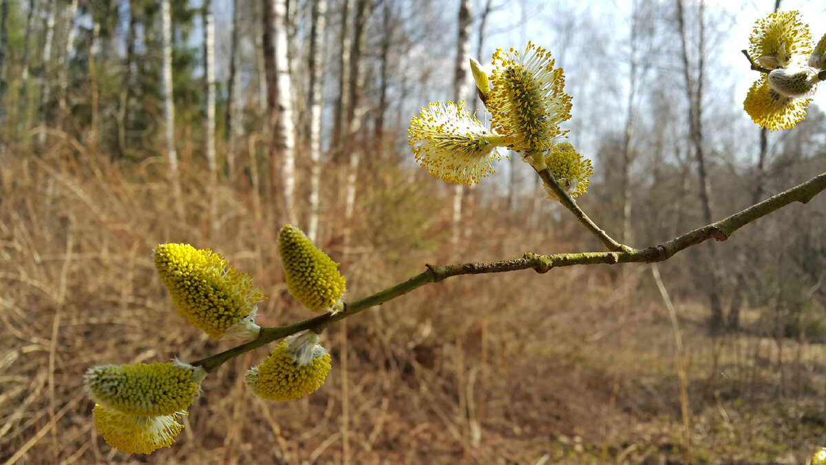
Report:
M 287 292 L 284 223 L 348 299 L 425 270 L 600 251 L 529 166 L 457 189 L 406 127 L 476 98 L 468 57 L 552 51 L 579 204 L 648 247 L 826 171 L 821 92 L 764 132 L 740 50 L 775 2 L 0 0 L 0 462 L 805 463 L 826 446 L 826 196 L 662 262 L 458 276 L 330 327 L 334 369 L 293 403 L 203 383 L 173 448 L 114 451 L 82 375 L 232 347 L 178 317 L 161 242 L 211 248 Z M 800 9 L 814 41 L 822 2 Z M 658 271 L 668 299 L 658 290 Z M 668 304 L 673 305 L 670 316 Z M 673 318 L 672 318 L 673 317 Z

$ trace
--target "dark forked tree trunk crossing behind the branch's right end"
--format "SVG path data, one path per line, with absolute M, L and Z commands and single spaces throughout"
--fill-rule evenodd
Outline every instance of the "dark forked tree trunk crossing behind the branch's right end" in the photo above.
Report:
M 703 126 L 702 126 L 702 100 L 703 100 L 703 61 L 705 54 L 704 38 L 704 4 L 700 0 L 699 24 L 700 37 L 698 44 L 697 63 L 692 67 L 689 64 L 688 46 L 686 40 L 685 19 L 683 17 L 682 0 L 676 0 L 677 22 L 680 30 L 683 70 L 686 79 L 686 96 L 689 102 L 689 137 L 691 146 L 694 149 L 695 161 L 697 162 L 697 175 L 700 180 L 700 205 L 703 209 L 703 221 L 711 223 L 711 187 L 705 171 L 705 155 L 703 153 Z M 691 70 L 696 70 L 696 77 L 692 77 Z M 709 242 L 705 247 L 708 251 L 706 265 L 710 267 L 710 280 L 708 280 L 708 295 L 711 307 L 711 317 L 709 319 L 709 332 L 719 333 L 724 327 L 723 304 L 719 295 L 719 271 L 714 266 L 714 243 Z

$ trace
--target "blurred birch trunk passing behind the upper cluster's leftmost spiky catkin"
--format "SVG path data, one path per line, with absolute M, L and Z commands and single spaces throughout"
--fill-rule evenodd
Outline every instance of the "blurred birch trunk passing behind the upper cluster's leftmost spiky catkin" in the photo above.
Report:
M 473 23 L 472 0 L 461 0 L 458 14 L 458 39 L 456 41 L 456 61 L 453 65 L 453 101 L 457 104 L 468 95 L 468 71 L 470 68 L 470 33 Z M 481 34 L 480 34 L 481 35 Z M 480 40 L 481 41 L 481 40 Z M 456 246 L 462 231 L 462 197 L 464 185 L 453 188 L 453 228 L 450 242 Z M 455 251 L 455 249 L 454 249 Z

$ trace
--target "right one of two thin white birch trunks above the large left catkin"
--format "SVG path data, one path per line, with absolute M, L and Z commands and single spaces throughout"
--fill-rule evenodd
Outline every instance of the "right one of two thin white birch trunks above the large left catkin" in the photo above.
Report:
M 209 170 L 209 218 L 212 237 L 220 234 L 221 223 L 218 221 L 216 186 L 218 170 L 215 154 L 215 17 L 212 15 L 211 0 L 203 2 L 204 18 L 204 79 L 207 87 L 207 170 Z

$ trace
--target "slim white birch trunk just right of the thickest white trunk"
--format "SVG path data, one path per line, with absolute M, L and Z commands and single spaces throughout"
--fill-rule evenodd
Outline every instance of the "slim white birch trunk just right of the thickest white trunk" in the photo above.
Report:
M 318 238 L 318 220 L 320 208 L 321 185 L 321 76 L 324 75 L 321 42 L 326 26 L 326 0 L 313 0 L 311 11 L 310 86 L 307 93 L 307 106 L 310 108 L 310 221 L 307 225 L 307 237 L 312 242 Z

